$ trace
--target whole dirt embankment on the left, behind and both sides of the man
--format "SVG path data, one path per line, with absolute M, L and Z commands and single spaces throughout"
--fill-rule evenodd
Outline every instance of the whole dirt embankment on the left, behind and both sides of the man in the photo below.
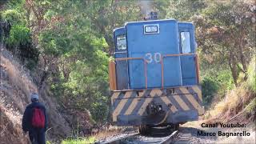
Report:
M 27 143 L 22 134 L 22 114 L 30 103 L 30 94 L 38 92 L 40 102 L 46 105 L 49 123 L 46 138 L 66 138 L 71 133 L 70 126 L 58 113 L 53 98 L 48 97 L 47 86 L 38 91 L 30 73 L 5 48 L 0 47 L 0 139 L 3 143 Z

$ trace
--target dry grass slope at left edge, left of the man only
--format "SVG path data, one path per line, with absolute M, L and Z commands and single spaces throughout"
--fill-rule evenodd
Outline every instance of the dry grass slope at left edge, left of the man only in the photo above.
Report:
M 0 137 L 4 143 L 27 143 L 22 134 L 22 113 L 36 86 L 26 71 L 5 50 L 0 51 Z

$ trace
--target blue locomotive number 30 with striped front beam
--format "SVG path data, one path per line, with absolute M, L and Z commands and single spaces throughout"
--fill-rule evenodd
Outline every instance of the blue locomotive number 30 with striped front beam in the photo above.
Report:
M 204 113 L 194 26 L 174 19 L 127 22 L 114 30 L 110 61 L 113 122 L 174 126 Z

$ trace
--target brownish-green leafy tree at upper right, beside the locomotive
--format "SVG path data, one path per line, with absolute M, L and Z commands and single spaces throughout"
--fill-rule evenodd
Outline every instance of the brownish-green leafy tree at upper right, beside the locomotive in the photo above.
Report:
M 198 46 L 208 63 L 227 65 L 234 84 L 245 74 L 250 58 L 255 54 L 255 18 L 252 3 L 243 1 L 212 2 L 195 16 Z

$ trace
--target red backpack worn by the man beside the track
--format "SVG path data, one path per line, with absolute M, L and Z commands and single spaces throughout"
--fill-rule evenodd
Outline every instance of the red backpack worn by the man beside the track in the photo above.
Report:
M 33 114 L 32 114 L 32 126 L 36 128 L 44 128 L 45 127 L 45 114 L 43 111 L 39 108 L 34 108 Z

